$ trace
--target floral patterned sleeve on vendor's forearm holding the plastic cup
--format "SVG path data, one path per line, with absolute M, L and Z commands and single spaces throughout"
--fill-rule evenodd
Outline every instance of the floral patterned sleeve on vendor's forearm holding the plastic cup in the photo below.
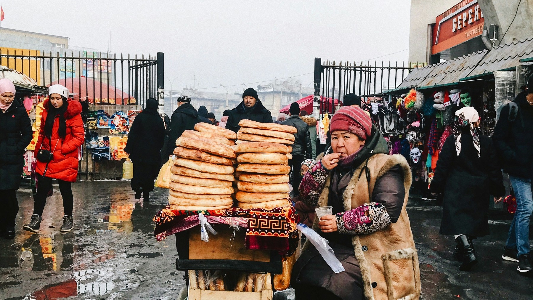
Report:
M 343 234 L 368 234 L 391 224 L 386 208 L 372 202 L 336 215 L 337 231 Z

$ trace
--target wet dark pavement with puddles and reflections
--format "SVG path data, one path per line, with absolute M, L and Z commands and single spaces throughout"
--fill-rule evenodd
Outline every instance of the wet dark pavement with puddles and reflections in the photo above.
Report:
M 158 189 L 150 202 L 135 200 L 128 181 L 78 182 L 74 225 L 60 233 L 62 200 L 58 187 L 48 199 L 41 233 L 22 230 L 33 209 L 29 185 L 17 196 L 17 237 L 0 238 L 0 299 L 176 299 L 184 286 L 175 270 L 175 240 L 157 242 L 152 217 L 165 206 L 168 192 Z M 411 201 L 411 228 L 422 273 L 422 299 L 532 299 L 533 278 L 500 258 L 510 217 L 490 216 L 492 234 L 474 245 L 479 263 L 458 271 L 451 254 L 453 237 L 441 236 L 441 208 Z M 20 259 L 24 250 L 33 254 Z M 287 291 L 289 298 L 293 293 Z

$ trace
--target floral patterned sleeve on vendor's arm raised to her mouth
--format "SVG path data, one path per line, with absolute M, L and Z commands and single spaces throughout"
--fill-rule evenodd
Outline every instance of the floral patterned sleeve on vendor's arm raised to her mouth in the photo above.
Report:
M 320 160 L 314 164 L 307 173 L 303 175 L 302 182 L 298 190 L 300 191 L 300 200 L 307 205 L 316 206 L 320 193 L 326 184 L 326 178 L 329 170 L 322 166 Z

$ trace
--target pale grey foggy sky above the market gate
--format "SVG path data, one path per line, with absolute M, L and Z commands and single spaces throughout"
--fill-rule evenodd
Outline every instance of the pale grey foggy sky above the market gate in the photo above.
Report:
M 239 85 L 232 92 L 242 91 L 242 83 L 313 72 L 315 57 L 353 62 L 407 49 L 409 3 L 4 0 L 2 27 L 67 36 L 69 45 L 101 52 L 109 39 L 111 53 L 164 52 L 165 77 L 177 77 L 173 90 L 193 86 L 196 75 L 200 89 L 217 87 L 204 91 Z M 407 57 L 403 51 L 376 60 Z M 294 79 L 312 86 L 312 74 Z

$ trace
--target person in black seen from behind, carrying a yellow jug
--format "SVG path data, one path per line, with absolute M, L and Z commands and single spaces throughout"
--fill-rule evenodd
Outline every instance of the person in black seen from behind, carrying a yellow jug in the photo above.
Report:
M 141 199 L 142 193 L 144 201 L 150 200 L 149 193 L 154 190 L 154 180 L 161 166 L 159 151 L 165 142 L 165 124 L 157 107 L 156 99 L 146 101 L 146 108 L 135 117 L 124 148 L 133 161 L 131 186 L 135 199 Z

